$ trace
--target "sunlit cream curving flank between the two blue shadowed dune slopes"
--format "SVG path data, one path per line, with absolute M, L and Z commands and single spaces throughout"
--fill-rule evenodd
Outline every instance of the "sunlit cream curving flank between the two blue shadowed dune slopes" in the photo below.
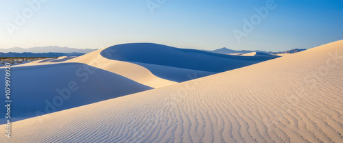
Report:
M 88 64 L 89 66 L 94 66 L 96 68 L 101 68 L 103 70 L 108 70 L 112 73 L 116 73 L 128 79 L 132 79 L 138 83 L 145 86 L 150 86 L 152 88 L 161 88 L 163 86 L 169 86 L 177 82 L 169 81 L 167 79 L 161 79 L 153 75 L 150 70 L 139 66 L 137 64 L 132 64 L 129 62 L 121 62 L 117 60 L 109 60 L 106 57 L 100 55 L 100 52 L 104 49 L 99 49 L 93 51 L 86 55 L 80 57 L 75 57 L 71 60 L 65 62 L 78 62 Z

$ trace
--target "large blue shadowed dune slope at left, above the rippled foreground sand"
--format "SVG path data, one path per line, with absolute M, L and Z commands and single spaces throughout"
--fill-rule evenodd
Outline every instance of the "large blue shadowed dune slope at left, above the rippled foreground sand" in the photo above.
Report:
M 11 71 L 12 121 L 152 89 L 86 64 L 22 66 Z M 0 72 L 5 73 L 4 68 Z M 5 87 L 5 82 L 0 86 Z M 5 116 L 0 116 L 0 122 L 5 122 Z

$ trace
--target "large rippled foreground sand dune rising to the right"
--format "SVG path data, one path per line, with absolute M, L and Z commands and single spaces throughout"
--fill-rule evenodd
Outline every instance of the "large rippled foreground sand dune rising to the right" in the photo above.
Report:
M 13 123 L 2 142 L 342 142 L 343 40 Z M 4 127 L 1 125 L 1 127 Z

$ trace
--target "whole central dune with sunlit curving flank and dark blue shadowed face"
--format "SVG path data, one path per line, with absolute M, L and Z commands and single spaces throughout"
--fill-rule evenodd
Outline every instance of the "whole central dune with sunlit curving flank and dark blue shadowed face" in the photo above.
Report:
M 161 88 L 188 81 L 189 75 L 205 77 L 226 70 L 274 59 L 273 56 L 242 57 L 162 44 L 119 44 L 65 62 L 78 62 L 122 75 L 145 86 Z M 195 77 L 195 76 L 193 76 Z

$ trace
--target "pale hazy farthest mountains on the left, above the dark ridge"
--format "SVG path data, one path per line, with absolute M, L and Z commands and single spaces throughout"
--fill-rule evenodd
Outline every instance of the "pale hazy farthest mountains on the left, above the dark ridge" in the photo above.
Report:
M 32 47 L 28 49 L 14 47 L 10 49 L 0 49 L 2 53 L 90 53 L 97 49 L 75 49 L 69 47 L 56 47 L 56 46 L 49 46 L 49 47 Z

